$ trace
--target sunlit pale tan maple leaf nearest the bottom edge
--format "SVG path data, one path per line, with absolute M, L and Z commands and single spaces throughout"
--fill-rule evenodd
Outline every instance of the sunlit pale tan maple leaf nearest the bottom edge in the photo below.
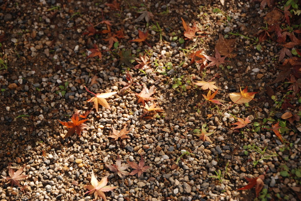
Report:
M 96 179 L 94 172 L 92 170 L 92 175 L 91 175 L 91 185 L 86 185 L 85 188 L 87 188 L 89 191 L 86 193 L 89 194 L 93 194 L 95 196 L 95 199 L 97 199 L 97 197 L 101 197 L 103 200 L 107 200 L 105 197 L 104 192 L 108 192 L 111 191 L 113 189 L 115 189 L 117 186 L 108 186 L 106 185 L 108 183 L 108 177 L 105 176 L 103 177 L 99 182 Z M 85 194 L 86 194 L 85 193 Z

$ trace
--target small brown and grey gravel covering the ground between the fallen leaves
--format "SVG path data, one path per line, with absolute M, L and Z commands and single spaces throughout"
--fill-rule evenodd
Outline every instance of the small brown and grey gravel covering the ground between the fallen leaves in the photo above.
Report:
M 291 125 L 299 132 L 284 134 L 289 147 L 271 130 L 254 132 L 243 128 L 236 132 L 231 128 L 235 117 L 249 116 L 252 122 L 261 122 L 275 111 L 265 86 L 274 90 L 278 87 L 271 84 L 277 72 L 273 58 L 278 46 L 263 42 L 258 51 L 251 40 L 230 34 L 240 32 L 251 36 L 257 32 L 254 27 L 264 26 L 262 16 L 268 10 L 260 10 L 258 4 L 249 1 L 225 2 L 224 6 L 215 1 L 203 4 L 197 0 L 147 1 L 145 6 L 155 17 L 146 23 L 134 22 L 140 15 L 134 6 L 140 5 L 128 3 L 123 1 L 120 11 L 113 11 L 98 1 L 2 3 L 0 34 L 5 34 L 5 40 L 1 57 L 7 61 L 8 69 L 0 71 L 3 105 L 0 173 L 7 176 L 8 163 L 12 162 L 16 167 L 26 164 L 24 171 L 29 177 L 21 182 L 22 186 L 28 185 L 24 191 L 3 180 L 1 198 L 90 200 L 93 195 L 85 194 L 84 186 L 90 183 L 93 170 L 98 180 L 109 176 L 108 184 L 118 186 L 106 192 L 108 200 L 249 200 L 255 197 L 254 190 L 236 189 L 246 185 L 245 176 L 256 177 L 268 168 L 264 188 L 273 195 L 278 193 L 282 198 L 296 200 L 300 180 L 281 176 L 279 172 L 284 164 L 290 170 L 301 165 L 300 123 Z M 214 8 L 221 12 L 213 12 Z M 135 56 L 147 51 L 149 63 L 143 71 L 120 65 L 118 50 L 108 49 L 104 34 L 83 34 L 89 22 L 96 24 L 102 20 L 102 14 L 113 24 L 112 31 L 124 31 L 125 38 L 119 39 L 118 49 L 130 49 Z M 202 37 L 182 43 L 179 40 L 184 30 L 181 16 L 190 25 L 197 22 Z M 157 22 L 162 33 L 154 27 Z M 103 30 L 106 26 L 95 28 Z M 149 30 L 146 41 L 151 46 L 128 42 L 138 37 L 138 29 Z M 224 68 L 211 67 L 202 73 L 198 64 L 190 65 L 190 53 L 186 49 L 195 46 L 193 50 L 203 49 L 207 55 L 214 55 L 219 33 L 236 38 L 237 55 L 227 58 L 229 62 Z M 102 51 L 102 59 L 87 59 L 93 44 Z M 100 107 L 99 113 L 93 109 L 87 117 L 90 126 L 87 133 L 64 139 L 67 129 L 58 120 L 69 121 L 76 110 L 93 108 L 87 102 L 92 96 L 84 86 L 95 93 L 119 92 L 123 86 L 118 81 L 127 81 L 125 71 L 135 83 L 129 87 L 130 92 L 108 98 L 111 109 Z M 97 81 L 91 84 L 95 75 Z M 189 82 L 193 78 L 208 81 L 214 76 L 220 88 L 218 99 L 225 100 L 224 106 L 205 102 L 201 95 L 204 92 Z M 173 88 L 179 78 L 186 87 Z M 250 106 L 232 105 L 228 94 L 238 92 L 239 84 L 258 92 L 257 101 L 251 101 Z M 155 86 L 153 97 L 157 100 L 151 102 L 159 102 L 164 113 L 155 112 L 152 118 L 142 118 L 145 110 L 137 103 L 135 93 L 143 85 Z M 276 92 L 276 95 L 284 94 Z M 294 106 L 299 107 L 298 101 Z M 275 116 L 281 117 L 283 112 L 277 112 Z M 292 112 L 297 113 L 297 109 Z M 204 123 L 209 132 L 214 132 L 210 135 L 212 143 L 193 134 Z M 112 127 L 120 130 L 125 124 L 133 128 L 128 134 L 130 139 L 113 141 L 107 137 Z M 265 153 L 260 155 L 252 149 L 245 154 L 243 147 L 247 145 L 262 150 L 266 147 Z M 190 154 L 179 159 L 184 151 Z M 115 163 L 117 154 L 123 162 L 138 162 L 143 155 L 145 165 L 150 168 L 140 177 L 115 177 L 104 163 Z M 266 155 L 272 156 L 259 160 Z M 254 166 L 256 160 L 259 162 Z M 219 170 L 223 176 L 221 182 L 213 177 Z

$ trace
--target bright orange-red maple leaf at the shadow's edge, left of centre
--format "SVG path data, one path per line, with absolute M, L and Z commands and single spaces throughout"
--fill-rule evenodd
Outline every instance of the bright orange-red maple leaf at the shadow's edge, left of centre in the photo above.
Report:
M 79 136 L 81 135 L 81 132 L 87 132 L 84 129 L 89 129 L 90 127 L 85 124 L 84 122 L 87 121 L 88 119 L 81 119 L 79 120 L 79 117 L 81 118 L 86 118 L 89 114 L 90 111 L 86 111 L 85 115 L 79 115 L 80 110 L 77 110 L 72 116 L 71 116 L 71 121 L 68 122 L 64 122 L 64 121 L 60 121 L 59 122 L 62 125 L 67 126 L 68 128 L 70 128 L 67 132 L 67 134 L 65 135 L 64 138 L 69 137 L 70 135 L 72 135 L 74 132 L 76 132 Z

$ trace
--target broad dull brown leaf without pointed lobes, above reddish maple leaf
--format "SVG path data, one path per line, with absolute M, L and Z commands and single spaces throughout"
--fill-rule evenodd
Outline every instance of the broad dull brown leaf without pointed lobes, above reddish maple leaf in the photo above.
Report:
M 219 34 L 218 41 L 215 45 L 215 49 L 220 53 L 220 55 L 224 55 L 230 58 L 236 56 L 232 51 L 235 48 L 236 39 L 225 39 L 222 34 Z

